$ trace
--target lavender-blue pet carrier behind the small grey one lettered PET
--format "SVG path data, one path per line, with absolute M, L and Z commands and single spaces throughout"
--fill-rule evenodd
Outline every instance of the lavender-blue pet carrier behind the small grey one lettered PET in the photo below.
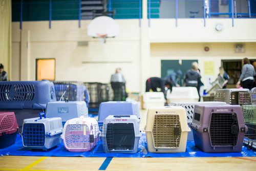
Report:
M 136 101 L 108 101 L 100 103 L 98 121 L 103 122 L 109 115 L 135 115 L 140 119 L 139 104 Z

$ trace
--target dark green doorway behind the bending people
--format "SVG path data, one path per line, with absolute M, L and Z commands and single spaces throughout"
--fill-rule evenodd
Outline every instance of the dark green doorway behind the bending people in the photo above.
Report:
M 191 68 L 192 62 L 198 62 L 198 60 L 161 60 L 161 77 L 164 78 L 172 72 L 181 70 L 182 75 L 176 81 L 182 86 L 184 75 Z

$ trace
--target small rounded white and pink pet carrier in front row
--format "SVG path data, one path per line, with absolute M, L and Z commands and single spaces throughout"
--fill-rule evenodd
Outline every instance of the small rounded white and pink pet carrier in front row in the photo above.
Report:
M 94 118 L 74 118 L 68 120 L 63 128 L 63 144 L 70 152 L 86 152 L 93 149 L 99 141 L 99 125 Z

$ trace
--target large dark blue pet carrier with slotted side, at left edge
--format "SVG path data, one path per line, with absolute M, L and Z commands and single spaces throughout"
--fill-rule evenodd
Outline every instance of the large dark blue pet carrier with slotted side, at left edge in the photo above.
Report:
M 45 109 L 56 101 L 50 81 L 1 81 L 0 109 Z

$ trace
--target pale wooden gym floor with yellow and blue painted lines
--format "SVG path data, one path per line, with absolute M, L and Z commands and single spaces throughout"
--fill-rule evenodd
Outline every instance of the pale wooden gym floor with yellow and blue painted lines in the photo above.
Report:
M 146 124 L 141 111 L 140 129 Z M 111 160 L 112 159 L 112 160 Z M 0 170 L 256 170 L 256 157 L 87 158 L 1 156 Z

